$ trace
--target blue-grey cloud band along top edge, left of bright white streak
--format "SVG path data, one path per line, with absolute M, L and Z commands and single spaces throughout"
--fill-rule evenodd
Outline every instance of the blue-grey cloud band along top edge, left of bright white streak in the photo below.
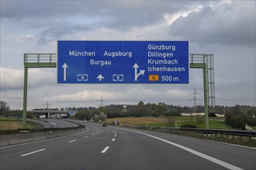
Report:
M 49 23 L 52 25 L 53 20 L 72 21 L 78 25 L 94 21 L 98 26 L 119 30 L 150 26 L 162 22 L 167 13 L 184 11 L 191 8 L 191 5 L 209 4 L 209 2 L 202 1 L 20 1 L 1 3 L 2 18 L 15 19 L 16 22 L 30 22 L 29 26 L 40 26 L 42 25 L 40 22 L 42 22 L 46 27 Z M 81 19 L 76 20 L 76 17 Z M 36 23 L 31 22 L 35 19 Z

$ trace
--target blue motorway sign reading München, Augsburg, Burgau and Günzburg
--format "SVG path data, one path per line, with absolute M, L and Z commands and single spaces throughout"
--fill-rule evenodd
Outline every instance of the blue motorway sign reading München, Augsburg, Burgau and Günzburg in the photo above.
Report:
M 189 42 L 58 41 L 57 83 L 189 83 Z

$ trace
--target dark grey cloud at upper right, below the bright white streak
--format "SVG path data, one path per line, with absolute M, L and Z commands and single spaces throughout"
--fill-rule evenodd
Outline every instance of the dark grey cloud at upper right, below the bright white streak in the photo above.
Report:
M 201 44 L 255 46 L 255 2 L 204 7 L 170 26 L 171 35 Z

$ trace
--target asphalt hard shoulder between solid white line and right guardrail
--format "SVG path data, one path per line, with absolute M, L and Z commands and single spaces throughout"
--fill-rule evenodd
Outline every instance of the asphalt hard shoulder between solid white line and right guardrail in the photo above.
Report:
M 245 169 L 256 168 L 255 148 L 240 147 L 237 145 L 230 145 L 216 141 L 206 141 L 204 139 L 191 137 L 180 138 L 180 136 L 174 134 L 171 136 L 154 132 L 149 132 L 148 134 L 152 134 L 168 141 L 173 141 L 174 143 L 187 148 L 192 148 L 195 151 L 199 151 L 213 158 L 218 158 L 223 162 L 229 162 L 237 167 L 243 167 Z

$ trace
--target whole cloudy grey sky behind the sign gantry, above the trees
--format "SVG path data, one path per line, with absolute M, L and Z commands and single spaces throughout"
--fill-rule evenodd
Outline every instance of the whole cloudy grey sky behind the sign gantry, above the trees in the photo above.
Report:
M 212 53 L 216 105 L 255 106 L 255 1 L 3 1 L 1 100 L 22 109 L 23 54 L 57 53 L 57 40 L 189 40 Z M 165 102 L 192 106 L 202 70 L 183 85 L 57 85 L 56 69 L 29 69 L 28 109 Z

